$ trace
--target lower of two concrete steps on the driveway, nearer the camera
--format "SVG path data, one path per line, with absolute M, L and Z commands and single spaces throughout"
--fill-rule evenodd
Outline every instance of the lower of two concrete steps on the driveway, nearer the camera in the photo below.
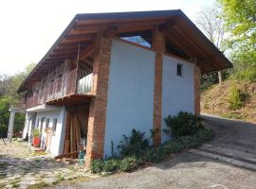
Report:
M 228 157 L 225 157 L 222 155 L 216 155 L 214 153 L 206 152 L 201 149 L 191 149 L 190 152 L 193 154 L 196 154 L 196 155 L 205 156 L 205 157 L 208 157 L 208 158 L 211 158 L 214 160 L 219 160 L 219 161 L 222 161 L 225 163 L 234 164 L 235 166 L 239 166 L 239 167 L 247 168 L 252 171 L 256 171 L 256 164 L 253 164 L 253 163 L 242 162 L 242 161 L 228 158 Z

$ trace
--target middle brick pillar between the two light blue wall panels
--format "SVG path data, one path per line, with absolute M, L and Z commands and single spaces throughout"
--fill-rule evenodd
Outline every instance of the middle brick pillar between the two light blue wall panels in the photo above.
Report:
M 161 123 L 162 123 L 162 69 L 163 54 L 165 53 L 165 36 L 158 28 L 154 30 L 153 48 L 155 49 L 155 91 L 154 91 L 154 119 L 153 129 L 157 129 L 153 144 L 161 144 Z

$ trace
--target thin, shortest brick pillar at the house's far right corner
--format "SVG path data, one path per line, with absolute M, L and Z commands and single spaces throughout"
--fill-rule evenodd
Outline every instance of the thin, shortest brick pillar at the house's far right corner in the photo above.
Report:
M 194 114 L 200 114 L 200 68 L 194 66 Z

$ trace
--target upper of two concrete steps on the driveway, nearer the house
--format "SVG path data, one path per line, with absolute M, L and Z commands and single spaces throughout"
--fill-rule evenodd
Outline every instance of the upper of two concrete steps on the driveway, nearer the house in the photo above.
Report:
M 210 144 L 200 146 L 199 149 L 205 152 L 213 153 L 215 155 L 225 156 L 227 158 L 231 158 L 246 163 L 252 163 L 256 165 L 256 154 Z

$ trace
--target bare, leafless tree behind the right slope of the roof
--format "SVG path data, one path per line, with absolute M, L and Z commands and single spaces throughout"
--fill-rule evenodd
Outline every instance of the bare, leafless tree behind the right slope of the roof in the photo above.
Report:
M 223 51 L 223 39 L 225 34 L 224 20 L 220 17 L 222 14 L 221 6 L 215 2 L 199 11 L 195 20 L 196 25 L 205 33 L 209 38 L 210 42 L 214 43 L 217 48 Z M 213 72 L 210 74 L 204 75 L 201 80 L 203 85 L 215 83 L 219 80 L 219 83 L 222 82 L 222 74 L 219 71 L 218 75 Z M 210 82 L 210 83 L 204 83 Z

